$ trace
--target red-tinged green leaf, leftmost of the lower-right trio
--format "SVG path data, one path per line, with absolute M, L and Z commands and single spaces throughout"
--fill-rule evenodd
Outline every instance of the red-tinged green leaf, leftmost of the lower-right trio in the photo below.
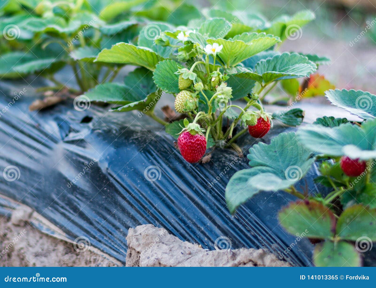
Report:
M 278 213 L 280 224 L 287 232 L 315 239 L 334 236 L 335 215 L 323 204 L 316 201 L 299 200 L 291 202 Z

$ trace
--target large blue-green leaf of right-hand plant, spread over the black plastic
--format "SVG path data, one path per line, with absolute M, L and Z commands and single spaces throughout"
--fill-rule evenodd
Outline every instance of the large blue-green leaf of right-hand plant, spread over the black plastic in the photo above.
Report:
M 260 191 L 277 191 L 293 186 L 308 172 L 313 158 L 297 141 L 295 133 L 281 133 L 269 145 L 249 149 L 250 169 L 236 172 L 226 186 L 230 213 Z

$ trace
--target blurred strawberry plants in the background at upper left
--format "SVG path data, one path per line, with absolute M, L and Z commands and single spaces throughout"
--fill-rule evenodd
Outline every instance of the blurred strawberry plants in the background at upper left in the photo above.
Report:
M 150 9 L 160 5 L 144 5 L 146 0 L 121 1 L 16 1 L 8 0 L 0 8 L 0 76 L 23 78 L 41 75 L 59 90 L 66 87 L 55 73 L 64 66 L 73 69 L 82 93 L 115 78 L 121 63 L 108 64 L 96 59 L 99 52 L 118 41 L 131 41 L 148 17 L 158 18 Z M 173 2 L 168 5 L 171 11 Z M 138 7 L 135 11 L 133 7 Z M 179 3 L 176 3 L 179 5 Z M 165 12 L 167 13 L 167 8 Z M 139 15 L 139 16 L 138 16 Z

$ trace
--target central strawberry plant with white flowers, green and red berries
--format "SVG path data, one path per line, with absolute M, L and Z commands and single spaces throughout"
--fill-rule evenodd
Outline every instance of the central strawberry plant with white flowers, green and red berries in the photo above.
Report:
M 275 50 L 287 39 L 287 27 L 308 23 L 311 12 L 268 22 L 253 14 L 212 9 L 202 15 L 194 7 L 187 11 L 186 19 L 144 26 L 137 43 L 120 42 L 103 49 L 94 63 L 138 67 L 124 84 L 103 83 L 85 95 L 91 101 L 113 104 L 111 111 L 139 110 L 165 125 L 188 162 L 200 160 L 204 143 L 207 148 L 218 144 L 241 153 L 235 143 L 238 137 L 247 131 L 255 138 L 264 137 L 272 119 L 290 126 L 302 123 L 299 108 L 270 114 L 262 99 L 281 80 L 317 70 L 317 56 L 310 55 L 311 61 L 306 55 Z M 153 39 L 147 37 L 150 27 L 160 31 Z M 155 114 L 163 93 L 174 95 L 174 108 L 181 114 L 172 123 Z M 197 150 L 194 155 L 193 150 Z

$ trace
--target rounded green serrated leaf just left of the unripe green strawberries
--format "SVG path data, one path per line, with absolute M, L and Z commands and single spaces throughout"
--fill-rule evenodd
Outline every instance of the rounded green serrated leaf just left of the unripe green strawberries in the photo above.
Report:
M 179 93 L 179 75 L 175 74 L 178 69 L 182 69 L 173 60 L 164 60 L 157 64 L 153 72 L 153 79 L 158 88 L 168 93 Z

